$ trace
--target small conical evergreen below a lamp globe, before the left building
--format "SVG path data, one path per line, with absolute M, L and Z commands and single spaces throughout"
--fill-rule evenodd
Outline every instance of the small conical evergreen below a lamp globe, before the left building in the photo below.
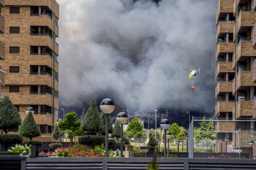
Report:
M 32 140 L 33 137 L 38 137 L 41 135 L 40 129 L 35 123 L 35 119 L 33 118 L 33 114 L 31 111 L 22 122 L 19 134 L 20 136 L 28 137 L 29 140 Z

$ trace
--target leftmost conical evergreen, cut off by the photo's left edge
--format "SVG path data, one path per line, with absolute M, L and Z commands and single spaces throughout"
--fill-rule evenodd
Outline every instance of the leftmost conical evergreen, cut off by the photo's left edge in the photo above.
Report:
M 22 123 L 17 108 L 14 107 L 8 96 L 0 100 L 0 129 L 6 134 L 16 129 Z

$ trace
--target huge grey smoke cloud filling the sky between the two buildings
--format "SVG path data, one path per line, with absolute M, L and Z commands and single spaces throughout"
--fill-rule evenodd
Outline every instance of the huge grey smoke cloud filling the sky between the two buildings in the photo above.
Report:
M 213 113 L 217 1 L 59 0 L 64 107 L 111 97 L 140 114 Z M 194 90 L 189 72 L 202 67 Z

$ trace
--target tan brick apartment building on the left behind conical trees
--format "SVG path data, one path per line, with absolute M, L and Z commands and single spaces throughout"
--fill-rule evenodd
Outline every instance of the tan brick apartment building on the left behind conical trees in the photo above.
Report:
M 55 0 L 6 0 L 1 9 L 5 33 L 5 71 L 2 95 L 8 95 L 25 118 L 27 107 L 35 109 L 41 137 L 48 142 L 58 120 L 59 5 Z M 1 75 L 0 75 L 1 77 Z

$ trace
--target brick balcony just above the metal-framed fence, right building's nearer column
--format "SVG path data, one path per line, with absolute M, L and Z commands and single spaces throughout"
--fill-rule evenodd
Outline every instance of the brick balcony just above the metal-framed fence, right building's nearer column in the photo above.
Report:
M 254 115 L 252 100 L 239 100 L 236 105 L 236 119 L 248 118 Z

